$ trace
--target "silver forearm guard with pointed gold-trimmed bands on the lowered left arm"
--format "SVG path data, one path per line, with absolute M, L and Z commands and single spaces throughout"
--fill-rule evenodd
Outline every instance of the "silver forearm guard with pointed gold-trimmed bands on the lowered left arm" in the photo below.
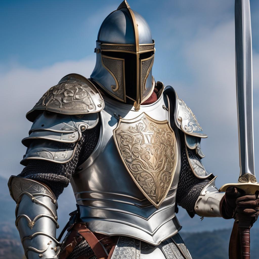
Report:
M 11 176 L 8 182 L 16 202 L 16 227 L 28 259 L 58 258 L 56 239 L 57 201 L 53 192 L 38 181 Z

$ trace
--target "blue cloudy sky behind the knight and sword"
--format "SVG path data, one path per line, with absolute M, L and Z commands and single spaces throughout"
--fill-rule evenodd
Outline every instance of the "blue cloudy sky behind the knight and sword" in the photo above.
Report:
M 235 97 L 234 0 L 128 1 L 147 20 L 156 43 L 153 75 L 172 85 L 209 138 L 202 140 L 217 185 L 239 174 Z M 1 1 L 0 175 L 18 174 L 25 120 L 42 94 L 68 73 L 89 77 L 103 19 L 120 1 Z M 259 168 L 259 1 L 251 0 L 255 165 Z M 257 172 L 259 174 L 259 172 Z M 258 176 L 259 177 L 259 176 Z

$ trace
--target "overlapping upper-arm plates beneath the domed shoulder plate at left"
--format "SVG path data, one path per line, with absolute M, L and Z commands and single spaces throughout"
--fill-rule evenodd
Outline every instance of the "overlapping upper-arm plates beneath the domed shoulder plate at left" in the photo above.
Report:
M 70 161 L 82 132 L 95 127 L 98 118 L 98 113 L 71 116 L 44 111 L 35 119 L 29 136 L 22 140 L 27 151 L 21 164 L 26 165 L 30 159 Z

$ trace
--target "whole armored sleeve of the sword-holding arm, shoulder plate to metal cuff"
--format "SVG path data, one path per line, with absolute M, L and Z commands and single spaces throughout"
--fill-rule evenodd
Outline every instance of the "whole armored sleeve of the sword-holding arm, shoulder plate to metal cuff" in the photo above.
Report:
M 202 138 L 207 138 L 195 115 L 172 87 L 165 93 L 175 104 L 174 118 L 176 126 L 182 132 L 182 167 L 177 188 L 177 202 L 189 215 L 201 217 L 221 217 L 220 201 L 225 193 L 218 192 L 213 174 L 209 174 L 201 159 L 205 157 L 200 147 Z

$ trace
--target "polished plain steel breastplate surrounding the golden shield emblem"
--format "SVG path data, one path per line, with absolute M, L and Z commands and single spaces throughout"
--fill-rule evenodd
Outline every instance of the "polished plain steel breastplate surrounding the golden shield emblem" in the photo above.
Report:
M 139 111 L 135 111 L 131 105 L 121 104 L 106 97 L 104 101 L 105 108 L 100 112 L 102 126 L 97 147 L 71 180 L 76 202 L 80 205 L 80 217 L 88 222 L 93 232 L 130 236 L 151 244 L 159 244 L 181 229 L 175 217 L 176 190 L 181 168 L 180 139 L 174 121 L 170 121 L 166 109 L 167 97 L 162 94 L 155 103 L 141 106 Z M 118 146 L 121 143 L 116 143 L 113 137 L 113 130 L 118 126 L 114 113 L 120 115 L 123 120 L 131 120 L 142 114 L 151 122 L 153 119 L 165 125 L 164 121 L 167 120 L 171 125 L 172 134 L 175 136 L 176 161 L 171 185 L 161 202 L 158 201 L 158 208 L 154 206 L 156 204 L 151 203 L 143 188 L 136 184 L 124 164 L 126 160 L 123 160 L 122 152 L 118 152 L 116 144 Z M 140 116 L 139 119 L 143 120 L 144 117 Z M 166 131 L 170 133 L 170 130 Z M 143 155 L 143 152 L 140 155 Z M 145 157 L 143 159 L 145 160 Z M 156 159 L 159 160 L 159 157 L 156 156 Z M 154 166 L 155 162 L 152 164 Z

